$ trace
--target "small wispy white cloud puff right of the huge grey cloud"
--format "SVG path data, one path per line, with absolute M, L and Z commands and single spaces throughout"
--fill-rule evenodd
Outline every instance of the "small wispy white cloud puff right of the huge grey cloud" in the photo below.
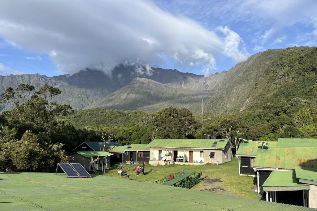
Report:
M 245 50 L 243 45 L 243 40 L 236 32 L 232 31 L 229 27 L 218 27 L 226 37 L 224 38 L 224 47 L 223 53 L 234 59 L 236 62 L 245 61 L 250 56 L 249 53 Z M 240 50 L 242 46 L 242 50 Z

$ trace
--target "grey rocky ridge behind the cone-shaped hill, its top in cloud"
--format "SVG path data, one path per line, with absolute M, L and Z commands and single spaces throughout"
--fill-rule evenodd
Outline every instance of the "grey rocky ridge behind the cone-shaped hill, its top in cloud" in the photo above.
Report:
M 19 84 L 32 84 L 36 90 L 44 84 L 49 84 L 62 91 L 62 94 L 56 97 L 56 102 L 70 104 L 74 109 L 82 109 L 109 96 L 138 77 L 148 78 L 174 89 L 210 90 L 227 73 L 223 71 L 210 74 L 205 78 L 202 75 L 183 73 L 177 70 L 161 68 L 152 68 L 152 70 L 150 74 L 146 74 L 136 71 L 134 66 L 120 65 L 112 71 L 111 75 L 99 70 L 87 69 L 70 76 L 47 77 L 39 74 L 0 76 L 0 93 L 9 86 L 15 89 Z M 123 108 L 120 105 L 117 107 Z M 137 109 L 137 107 L 135 108 Z M 5 107 L 1 109 L 5 109 Z M 125 109 L 129 109 L 129 106 Z

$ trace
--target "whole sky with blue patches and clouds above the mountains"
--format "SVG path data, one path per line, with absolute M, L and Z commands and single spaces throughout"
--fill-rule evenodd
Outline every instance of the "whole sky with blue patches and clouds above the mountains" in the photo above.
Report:
M 208 74 L 266 49 L 317 46 L 317 1 L 15 1 L 0 3 L 1 75 L 119 63 Z

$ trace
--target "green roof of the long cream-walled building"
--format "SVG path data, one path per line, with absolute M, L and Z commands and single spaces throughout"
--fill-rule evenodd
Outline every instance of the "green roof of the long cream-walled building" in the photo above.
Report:
M 220 140 L 225 141 L 220 142 Z M 217 146 L 212 146 L 215 141 L 217 141 Z M 224 149 L 228 141 L 229 139 L 154 139 L 147 147 Z

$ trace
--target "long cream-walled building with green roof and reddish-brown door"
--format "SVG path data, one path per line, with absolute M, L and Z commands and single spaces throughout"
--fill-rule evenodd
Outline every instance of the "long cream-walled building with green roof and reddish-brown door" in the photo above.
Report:
M 146 147 L 150 148 L 152 165 L 165 165 L 165 159 L 175 164 L 202 165 L 230 161 L 232 144 L 229 139 L 154 139 Z

